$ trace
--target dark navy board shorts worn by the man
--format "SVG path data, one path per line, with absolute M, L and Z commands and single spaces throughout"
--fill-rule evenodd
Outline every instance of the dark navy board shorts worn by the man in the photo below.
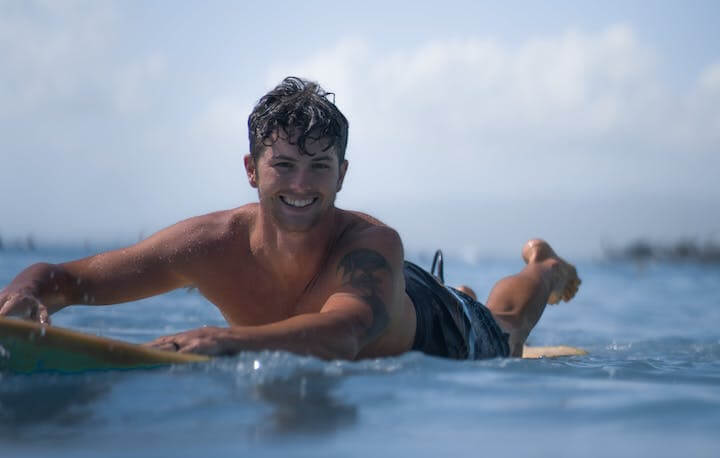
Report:
M 411 262 L 405 261 L 404 273 L 417 316 L 413 350 L 452 359 L 510 355 L 509 335 L 487 307 Z

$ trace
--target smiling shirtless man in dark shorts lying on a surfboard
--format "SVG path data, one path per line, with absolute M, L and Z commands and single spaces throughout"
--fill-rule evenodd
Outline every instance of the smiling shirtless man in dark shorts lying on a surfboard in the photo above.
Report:
M 405 262 L 392 228 L 336 208 L 348 122 L 315 83 L 286 78 L 260 99 L 248 128 L 245 169 L 258 203 L 182 221 L 125 249 L 32 265 L 0 291 L 0 315 L 49 323 L 71 304 L 193 286 L 228 326 L 148 345 L 210 355 L 277 349 L 358 359 L 419 350 L 466 359 L 521 356 L 545 305 L 577 291 L 574 267 L 531 240 L 527 266 L 499 281 L 485 307 L 468 289 Z

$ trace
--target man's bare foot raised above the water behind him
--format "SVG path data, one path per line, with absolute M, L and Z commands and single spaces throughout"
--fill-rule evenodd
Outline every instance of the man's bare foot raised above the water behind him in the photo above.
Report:
M 575 297 L 582 281 L 575 266 L 558 256 L 549 243 L 542 239 L 529 240 L 522 251 L 527 264 L 548 263 L 552 265 L 551 292 L 548 304 L 568 302 Z

